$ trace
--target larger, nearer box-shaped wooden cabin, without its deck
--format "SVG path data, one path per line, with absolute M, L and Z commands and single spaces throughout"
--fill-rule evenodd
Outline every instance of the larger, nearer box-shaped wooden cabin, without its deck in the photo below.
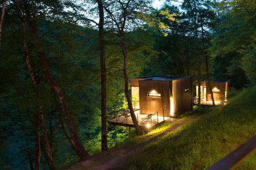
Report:
M 175 117 L 193 109 L 193 78 L 147 76 L 131 79 L 132 101 L 140 114 Z

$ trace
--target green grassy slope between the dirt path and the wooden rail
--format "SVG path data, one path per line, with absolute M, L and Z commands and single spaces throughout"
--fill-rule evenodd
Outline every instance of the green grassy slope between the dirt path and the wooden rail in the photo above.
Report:
M 205 169 L 256 135 L 256 86 L 222 107 L 209 109 L 195 122 L 145 145 L 131 169 Z M 237 169 L 255 169 L 256 154 Z

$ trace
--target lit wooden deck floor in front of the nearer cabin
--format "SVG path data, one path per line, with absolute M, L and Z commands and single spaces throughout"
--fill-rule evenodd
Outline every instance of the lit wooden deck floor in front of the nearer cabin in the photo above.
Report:
M 157 125 L 158 123 L 163 122 L 164 120 L 169 119 L 170 117 L 163 117 L 163 116 L 152 116 L 151 120 L 143 120 L 147 114 L 136 114 L 136 118 L 138 120 L 139 126 L 146 127 L 147 124 L 150 124 L 151 127 Z M 133 120 L 131 115 L 129 116 L 119 116 L 113 119 L 108 120 L 108 123 L 113 125 L 120 125 L 120 126 L 128 126 L 128 127 L 134 127 Z

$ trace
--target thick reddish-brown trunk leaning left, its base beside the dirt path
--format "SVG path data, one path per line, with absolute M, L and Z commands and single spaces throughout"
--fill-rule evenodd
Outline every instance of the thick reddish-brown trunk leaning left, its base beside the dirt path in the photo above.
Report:
M 28 3 L 27 3 L 26 0 L 23 0 L 23 2 L 24 2 L 25 14 L 26 14 L 26 18 L 27 18 L 27 21 L 28 21 L 30 32 L 34 35 L 34 37 L 36 39 L 39 39 L 37 31 L 34 28 L 33 22 L 31 20 L 31 14 L 30 14 L 30 10 L 29 10 L 29 7 L 28 7 Z M 83 148 L 82 142 L 81 142 L 81 140 L 80 140 L 80 138 L 79 138 L 79 136 L 78 136 L 78 134 L 75 130 L 75 126 L 72 122 L 72 119 L 71 119 L 69 109 L 68 109 L 68 106 L 66 104 L 66 100 L 64 98 L 63 92 L 61 91 L 60 87 L 58 87 L 56 85 L 56 83 L 54 82 L 54 80 L 52 78 L 52 74 L 51 74 L 50 69 L 48 67 L 46 55 L 45 55 L 45 52 L 42 50 L 42 48 L 39 50 L 39 56 L 40 56 L 42 66 L 43 66 L 44 71 L 45 71 L 47 82 L 50 85 L 50 87 L 53 89 L 55 94 L 57 95 L 60 106 L 61 106 L 61 109 L 63 111 L 63 114 L 65 115 L 65 120 L 66 120 L 66 123 L 69 127 L 70 134 L 71 134 L 71 136 L 73 138 L 73 141 L 76 145 L 76 147 L 75 147 L 76 150 L 77 150 L 76 153 L 78 154 L 78 156 L 81 159 L 86 159 L 89 156 L 89 154 Z

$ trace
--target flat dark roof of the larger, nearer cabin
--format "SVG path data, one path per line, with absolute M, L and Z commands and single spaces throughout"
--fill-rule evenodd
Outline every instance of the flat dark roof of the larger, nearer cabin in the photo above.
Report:
M 137 77 L 132 79 L 142 79 L 142 81 L 172 81 L 176 79 L 183 79 L 189 78 L 192 76 L 170 76 L 170 75 L 155 75 L 155 76 L 144 76 L 144 77 Z

